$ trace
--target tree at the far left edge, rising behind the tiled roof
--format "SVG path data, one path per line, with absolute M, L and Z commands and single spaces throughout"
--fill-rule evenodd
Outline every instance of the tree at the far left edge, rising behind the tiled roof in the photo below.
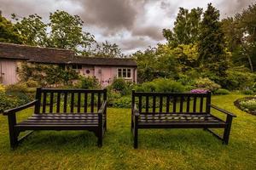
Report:
M 24 38 L 20 36 L 15 26 L 4 18 L 0 11 L 0 42 L 22 43 L 23 41 Z

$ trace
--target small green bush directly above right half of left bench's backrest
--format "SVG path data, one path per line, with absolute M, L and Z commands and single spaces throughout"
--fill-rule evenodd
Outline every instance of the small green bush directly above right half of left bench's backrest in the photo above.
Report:
M 97 89 L 100 88 L 100 84 L 96 77 L 79 77 L 76 88 Z

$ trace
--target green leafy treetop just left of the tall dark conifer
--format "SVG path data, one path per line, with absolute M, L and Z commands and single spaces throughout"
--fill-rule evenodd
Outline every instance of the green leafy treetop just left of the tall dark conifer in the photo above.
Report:
M 173 31 L 164 29 L 163 35 L 172 47 L 178 44 L 194 43 L 198 40 L 202 8 L 179 8 Z

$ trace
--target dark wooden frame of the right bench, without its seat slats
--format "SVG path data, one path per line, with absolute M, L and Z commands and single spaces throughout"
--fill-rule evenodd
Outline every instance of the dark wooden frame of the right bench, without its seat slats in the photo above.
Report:
M 160 108 L 162 108 L 163 107 L 162 99 L 164 97 L 168 96 L 168 95 L 172 96 L 174 98 L 180 97 L 181 99 L 183 99 L 183 97 L 189 97 L 189 98 L 192 98 L 192 97 L 196 98 L 197 97 L 197 98 L 200 98 L 200 99 L 202 97 L 206 97 L 207 98 L 206 99 L 206 112 L 202 112 L 202 101 L 201 101 L 201 104 L 200 104 L 201 114 L 208 114 L 210 116 L 213 116 L 211 114 L 211 108 L 212 108 L 212 109 L 215 109 L 217 111 L 220 111 L 220 112 L 224 113 L 226 115 L 226 120 L 223 121 L 223 120 L 219 119 L 217 116 L 213 116 L 214 118 L 224 122 L 224 124 L 209 124 L 209 123 L 206 123 L 206 124 L 193 124 L 193 123 L 178 123 L 178 124 L 175 124 L 175 123 L 169 122 L 169 123 L 164 123 L 164 124 L 159 123 L 159 124 L 154 125 L 154 126 L 150 126 L 150 125 L 147 125 L 147 124 L 140 125 L 139 124 L 139 117 L 141 116 L 142 105 L 143 105 L 142 97 L 146 97 L 146 102 L 145 102 L 146 103 L 146 108 L 145 109 L 146 109 L 146 112 L 147 112 L 148 107 L 149 107 L 148 106 L 148 98 L 149 97 L 153 97 L 154 102 L 155 102 L 156 97 L 160 97 Z M 138 99 L 139 99 L 139 101 L 138 101 L 139 102 L 139 104 L 138 104 L 139 109 L 137 109 L 136 97 L 138 97 Z M 175 102 L 175 105 L 176 105 L 176 101 L 174 101 L 174 102 Z M 169 108 L 169 104 L 171 103 L 169 101 L 169 98 L 168 98 L 168 101 L 166 103 L 167 103 L 166 105 L 168 105 L 168 108 Z M 182 104 L 180 104 L 180 105 L 182 105 Z M 154 107 L 155 107 L 155 105 L 154 105 Z M 187 108 L 188 107 L 189 106 L 187 106 Z M 193 111 L 195 111 L 195 108 L 196 108 L 196 105 L 193 105 Z M 177 112 L 168 112 L 168 113 L 176 114 Z M 157 112 L 157 114 L 161 114 L 161 111 Z M 164 114 L 166 114 L 166 112 Z M 131 133 L 132 133 L 132 137 L 133 137 L 133 140 L 134 140 L 133 147 L 135 149 L 137 149 L 137 147 L 138 147 L 138 129 L 139 128 L 203 128 L 204 130 L 207 130 L 208 132 L 212 133 L 218 139 L 222 140 L 223 144 L 228 144 L 229 139 L 230 139 L 230 129 L 231 129 L 231 124 L 232 124 L 233 117 L 236 117 L 236 115 L 230 113 L 229 111 L 224 111 L 223 109 L 218 108 L 216 105 L 211 105 L 211 93 L 210 92 L 207 92 L 207 94 L 165 94 L 165 93 L 143 93 L 143 92 L 135 92 L 133 90 L 132 94 L 131 94 Z M 224 135 L 219 136 L 218 133 L 213 132 L 209 128 L 224 128 Z

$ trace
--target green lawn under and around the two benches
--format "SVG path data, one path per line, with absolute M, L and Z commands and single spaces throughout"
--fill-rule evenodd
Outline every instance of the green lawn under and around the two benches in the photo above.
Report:
M 41 131 L 10 150 L 7 117 L 0 116 L 0 169 L 256 169 L 256 116 L 236 109 L 233 101 L 241 97 L 212 97 L 212 104 L 237 115 L 229 145 L 201 129 L 148 129 L 139 131 L 134 150 L 131 110 L 109 108 L 102 148 L 87 131 Z

